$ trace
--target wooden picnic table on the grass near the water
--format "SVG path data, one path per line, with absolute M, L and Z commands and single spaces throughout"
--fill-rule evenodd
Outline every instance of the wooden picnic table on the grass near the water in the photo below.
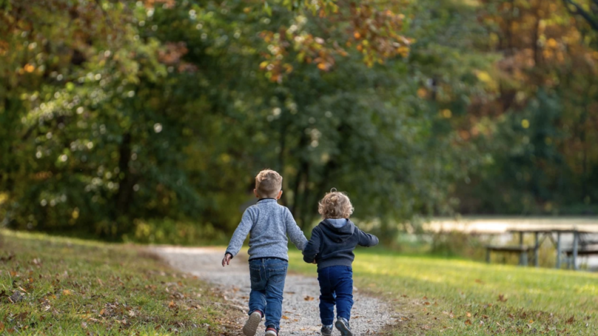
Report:
M 561 242 L 562 234 L 573 234 L 573 246 L 570 251 L 572 256 L 572 264 L 573 269 L 578 270 L 577 266 L 577 257 L 579 255 L 579 235 L 580 234 L 590 234 L 590 233 L 597 233 L 597 231 L 588 231 L 588 230 L 578 230 L 576 228 L 511 228 L 508 230 L 510 233 L 519 234 L 519 245 L 523 246 L 523 236 L 526 233 L 533 233 L 534 235 L 534 245 L 532 246 L 533 255 L 534 255 L 534 265 L 535 267 L 539 267 L 539 249 L 545 239 L 550 239 L 553 243 L 553 246 L 556 248 L 557 253 L 557 262 L 556 268 L 561 267 L 561 254 L 563 252 L 563 246 Z M 553 234 L 556 233 L 557 239 L 556 242 L 554 241 Z M 598 252 L 598 251 L 597 251 Z M 584 253 L 587 254 L 587 253 Z M 520 264 L 526 265 L 527 261 L 521 260 L 524 257 L 524 254 L 521 253 L 520 255 Z M 527 257 L 527 256 L 526 256 Z

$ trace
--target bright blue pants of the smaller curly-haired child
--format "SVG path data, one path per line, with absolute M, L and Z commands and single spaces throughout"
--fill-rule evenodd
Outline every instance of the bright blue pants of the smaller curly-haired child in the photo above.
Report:
M 353 269 L 349 266 L 330 266 L 318 270 L 320 283 L 320 319 L 323 325 L 334 322 L 337 316 L 350 320 L 353 307 Z

